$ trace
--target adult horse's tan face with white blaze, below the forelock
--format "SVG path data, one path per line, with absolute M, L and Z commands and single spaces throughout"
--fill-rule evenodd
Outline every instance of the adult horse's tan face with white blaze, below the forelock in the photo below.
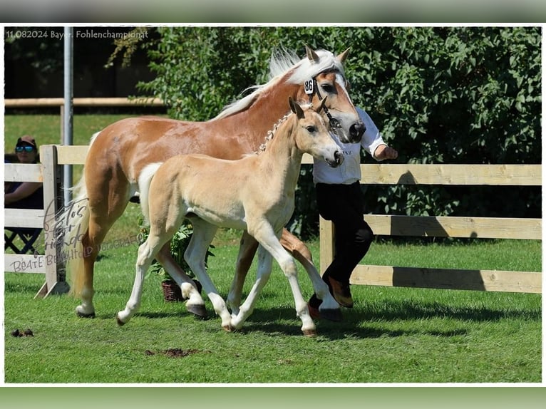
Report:
M 326 108 L 330 115 L 341 125 L 341 128 L 331 130 L 343 143 L 359 143 L 366 128 L 354 108 L 344 76 L 337 72 L 320 73 L 316 76 L 316 86 L 321 97 L 327 97 Z M 319 103 L 316 94 L 313 103 Z M 321 115 L 328 123 L 329 119 L 324 111 L 321 111 Z

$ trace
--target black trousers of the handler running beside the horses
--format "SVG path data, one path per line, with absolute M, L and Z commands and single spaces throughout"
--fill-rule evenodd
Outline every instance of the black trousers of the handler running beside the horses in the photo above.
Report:
M 334 261 L 322 278 L 349 283 L 354 268 L 366 255 L 374 240 L 374 232 L 364 221 L 364 195 L 360 183 L 352 185 L 316 184 L 319 214 L 334 223 Z

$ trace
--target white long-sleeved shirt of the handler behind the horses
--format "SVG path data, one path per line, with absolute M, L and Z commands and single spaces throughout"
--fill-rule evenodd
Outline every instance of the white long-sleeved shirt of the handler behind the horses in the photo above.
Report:
M 344 161 L 338 167 L 330 167 L 325 160 L 316 159 L 313 160 L 313 182 L 327 183 L 329 185 L 351 185 L 354 182 L 361 180 L 360 172 L 360 149 L 361 147 L 366 150 L 375 160 L 378 160 L 374 156 L 374 152 L 379 145 L 386 145 L 383 142 L 383 137 L 379 130 L 371 120 L 370 116 L 361 110 L 356 108 L 356 112 L 359 113 L 360 119 L 366 127 L 366 132 L 362 135 L 360 143 L 341 143 L 337 135 L 331 133 L 332 138 L 336 141 L 337 145 L 341 147 L 341 151 L 344 155 Z

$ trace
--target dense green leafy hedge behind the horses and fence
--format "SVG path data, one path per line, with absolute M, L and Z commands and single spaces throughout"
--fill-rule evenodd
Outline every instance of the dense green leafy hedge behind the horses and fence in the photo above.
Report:
M 275 48 L 351 47 L 346 76 L 404 163 L 541 162 L 540 27 L 165 27 L 145 43 L 157 74 L 140 90 L 170 115 L 207 120 L 267 81 Z M 369 161 L 369 157 L 363 157 Z M 540 187 L 370 186 L 368 212 L 540 217 Z M 289 226 L 316 234 L 308 169 Z

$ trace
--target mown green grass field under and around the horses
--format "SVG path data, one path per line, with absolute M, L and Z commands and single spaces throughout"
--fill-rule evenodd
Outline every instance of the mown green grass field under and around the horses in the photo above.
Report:
M 5 147 L 31 133 L 57 143 L 58 122 L 36 115 L 6 117 Z M 54 115 L 52 115 L 53 118 Z M 96 118 L 97 117 L 97 118 Z M 75 143 L 112 122 L 111 115 L 74 120 Z M 43 121 L 42 121 L 43 120 Z M 29 129 L 31 128 L 31 129 Z M 26 130 L 29 129 L 29 130 Z M 49 136 L 47 136 L 49 135 Z M 49 139 L 48 139 L 49 138 Z M 76 172 L 75 172 L 76 173 Z M 106 241 L 138 229 L 129 205 Z M 210 275 L 226 295 L 238 233 L 215 239 Z M 319 257 L 318 240 L 309 247 Z M 540 383 L 542 296 L 352 286 L 354 309 L 344 321 L 317 321 L 305 338 L 279 267 L 241 331 L 226 333 L 205 299 L 210 319 L 194 319 L 182 303 L 166 303 L 160 277 L 148 276 L 140 312 L 123 327 L 115 314 L 128 300 L 136 247 L 108 249 L 96 264 L 96 319 L 78 319 L 71 296 L 34 299 L 41 274 L 4 274 L 4 377 L 28 383 Z M 367 264 L 542 271 L 541 242 L 487 240 L 431 243 L 378 240 Z M 312 293 L 302 269 L 304 296 Z M 249 280 L 254 277 L 253 266 Z M 244 294 L 250 283 L 247 282 Z M 11 336 L 14 329 L 34 336 Z

